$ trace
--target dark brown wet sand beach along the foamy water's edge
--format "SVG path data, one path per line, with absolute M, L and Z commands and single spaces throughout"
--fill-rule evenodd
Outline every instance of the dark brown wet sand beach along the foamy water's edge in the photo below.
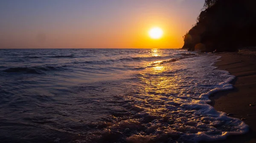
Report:
M 256 143 L 256 57 L 244 53 L 217 53 L 222 56 L 215 66 L 236 76 L 234 89 L 212 95 L 211 105 L 218 111 L 231 113 L 250 126 L 246 135 L 230 136 L 211 143 Z

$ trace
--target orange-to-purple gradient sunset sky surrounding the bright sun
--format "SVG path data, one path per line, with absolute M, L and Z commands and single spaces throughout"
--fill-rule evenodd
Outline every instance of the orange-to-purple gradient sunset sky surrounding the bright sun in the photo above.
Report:
M 0 48 L 181 48 L 204 0 L 0 0 Z M 148 36 L 163 29 L 162 39 Z

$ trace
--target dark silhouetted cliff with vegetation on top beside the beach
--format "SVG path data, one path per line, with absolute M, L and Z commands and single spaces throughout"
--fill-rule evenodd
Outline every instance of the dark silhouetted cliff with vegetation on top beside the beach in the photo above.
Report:
M 184 36 L 183 48 L 211 52 L 256 46 L 256 0 L 206 0 L 211 6 Z

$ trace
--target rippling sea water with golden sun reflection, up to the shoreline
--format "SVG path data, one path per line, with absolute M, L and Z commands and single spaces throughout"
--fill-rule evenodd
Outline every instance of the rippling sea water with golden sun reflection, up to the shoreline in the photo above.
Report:
M 0 50 L 0 142 L 198 143 L 244 134 L 209 95 L 235 78 L 172 49 Z

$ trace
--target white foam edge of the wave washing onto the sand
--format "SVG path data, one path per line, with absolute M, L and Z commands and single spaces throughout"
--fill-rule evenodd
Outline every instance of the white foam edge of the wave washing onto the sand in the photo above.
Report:
M 213 67 L 213 64 L 215 64 L 215 62 L 218 62 L 220 60 L 218 60 L 220 58 L 220 56 L 217 56 L 213 62 L 211 64 L 209 64 L 210 66 L 212 66 L 212 68 L 215 70 L 217 67 Z M 195 112 L 195 114 L 207 114 L 208 117 L 204 118 L 203 120 L 211 120 L 211 117 L 214 117 L 215 121 L 212 121 L 209 125 L 210 126 L 219 126 L 221 125 L 222 122 L 224 121 L 231 121 L 230 123 L 232 123 L 233 125 L 236 125 L 236 130 L 233 132 L 222 132 L 221 135 L 207 135 L 207 132 L 198 132 L 196 134 L 184 134 L 183 136 L 185 138 L 188 138 L 190 141 L 198 143 L 199 141 L 214 141 L 214 140 L 224 140 L 227 138 L 227 136 L 229 135 L 241 135 L 241 134 L 245 134 L 249 131 L 249 126 L 247 124 L 245 124 L 244 122 L 242 122 L 241 120 L 237 119 L 237 118 L 230 118 L 227 116 L 226 113 L 224 112 L 219 112 L 216 111 L 212 106 L 210 106 L 207 103 L 210 103 L 211 100 L 209 99 L 209 96 L 217 93 L 219 91 L 224 91 L 224 90 L 232 90 L 233 89 L 233 85 L 230 84 L 236 77 L 233 75 L 230 75 L 229 72 L 224 71 L 224 70 L 218 70 L 220 71 L 222 74 L 219 75 L 221 77 L 225 77 L 226 79 L 223 82 L 220 82 L 219 84 L 217 84 L 215 86 L 214 89 L 210 90 L 207 93 L 202 93 L 200 95 L 200 99 L 201 101 L 198 101 L 197 104 L 186 104 L 186 105 L 181 105 L 181 106 L 190 106 L 190 109 L 193 108 L 201 108 L 200 110 L 198 110 L 197 112 Z M 201 127 L 204 128 L 207 125 L 205 125 L 204 123 L 198 123 L 197 127 Z

